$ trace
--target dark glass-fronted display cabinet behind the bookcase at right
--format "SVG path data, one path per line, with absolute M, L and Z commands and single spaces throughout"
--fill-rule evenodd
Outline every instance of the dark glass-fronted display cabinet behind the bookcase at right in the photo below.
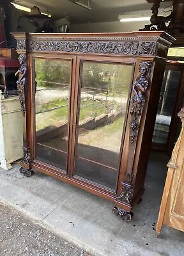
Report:
M 171 155 L 178 138 L 177 117 L 184 98 L 184 63 L 167 63 L 158 104 L 152 148 L 165 150 Z M 179 129 L 180 130 L 180 129 Z

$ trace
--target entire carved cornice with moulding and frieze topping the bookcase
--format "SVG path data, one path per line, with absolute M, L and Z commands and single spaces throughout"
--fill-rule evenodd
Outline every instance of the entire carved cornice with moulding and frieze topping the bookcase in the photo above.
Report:
M 174 38 L 160 31 L 132 33 L 12 33 L 17 50 L 29 52 L 70 52 L 156 56 L 157 42 L 169 47 Z M 29 45 L 26 45 L 29 43 Z M 166 54 L 162 56 L 166 58 Z

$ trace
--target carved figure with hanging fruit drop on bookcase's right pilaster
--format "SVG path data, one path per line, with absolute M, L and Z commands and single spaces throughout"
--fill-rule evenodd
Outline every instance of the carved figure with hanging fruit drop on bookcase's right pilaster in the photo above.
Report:
M 146 101 L 146 90 L 149 86 L 149 79 L 151 74 L 151 62 L 141 61 L 139 63 L 139 76 L 133 84 L 134 95 L 131 99 L 130 115 L 132 116 L 130 121 L 130 143 L 134 143 L 135 137 L 139 130 L 139 120 L 142 115 L 142 109 Z

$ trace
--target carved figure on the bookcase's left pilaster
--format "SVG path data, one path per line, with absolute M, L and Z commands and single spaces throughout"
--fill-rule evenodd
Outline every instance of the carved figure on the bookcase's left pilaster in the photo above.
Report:
M 27 85 L 27 77 L 26 77 L 27 63 L 26 63 L 26 55 L 25 54 L 20 54 L 19 63 L 20 63 L 20 68 L 15 73 L 15 76 L 19 77 L 17 80 L 17 89 L 19 92 L 19 100 L 20 100 L 22 115 L 25 116 L 25 113 L 26 113 L 25 88 Z

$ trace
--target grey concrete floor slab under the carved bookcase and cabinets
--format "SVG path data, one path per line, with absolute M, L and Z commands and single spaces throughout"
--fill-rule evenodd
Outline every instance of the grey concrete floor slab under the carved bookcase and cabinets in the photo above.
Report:
M 168 160 L 165 154 L 151 152 L 146 191 L 130 222 L 112 214 L 111 202 L 42 173 L 27 178 L 19 173 L 19 164 L 8 172 L 0 169 L 0 202 L 93 255 L 183 255 L 183 232 L 164 227 L 162 239 L 157 239 L 154 230 Z

